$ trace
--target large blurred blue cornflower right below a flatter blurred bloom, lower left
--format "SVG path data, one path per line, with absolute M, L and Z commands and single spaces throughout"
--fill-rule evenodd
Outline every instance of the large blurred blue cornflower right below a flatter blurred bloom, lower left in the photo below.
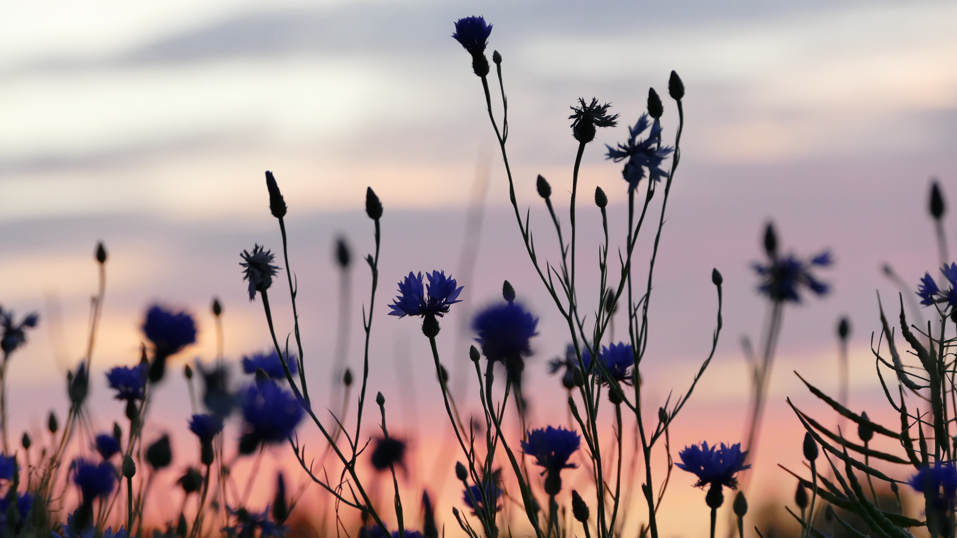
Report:
M 249 443 L 247 447 L 285 441 L 302 420 L 304 412 L 296 397 L 271 379 L 250 385 L 240 397 L 246 432 L 240 444 Z

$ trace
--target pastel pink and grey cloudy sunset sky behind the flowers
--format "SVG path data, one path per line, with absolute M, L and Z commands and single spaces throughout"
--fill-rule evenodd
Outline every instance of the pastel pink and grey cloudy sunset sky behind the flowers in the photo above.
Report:
M 545 376 L 545 362 L 562 352 L 567 329 L 523 251 L 479 79 L 450 37 L 453 22 L 473 14 L 494 25 L 489 48 L 504 58 L 510 158 L 542 257 L 554 260 L 557 247 L 535 177 L 552 184 L 567 226 L 576 149 L 568 106 L 594 96 L 621 114 L 617 128 L 599 130 L 590 144 L 579 182 L 588 311 L 600 232 L 595 185 L 612 201 L 612 248 L 624 241 L 626 183 L 619 165 L 605 161 L 604 144 L 625 139 L 650 86 L 665 96 L 673 69 L 684 80 L 682 161 L 643 365 L 655 379 L 650 409 L 673 387 L 683 392 L 707 354 L 712 268 L 725 287 L 718 354 L 679 418 L 676 446 L 740 441 L 748 384 L 739 341 L 761 334 L 766 304 L 750 264 L 763 256 L 768 220 L 785 250 L 811 256 L 830 248 L 835 267 L 818 273 L 832 293 L 785 313 L 768 410 L 773 435 L 756 465 L 756 490 L 790 496 L 793 481 L 776 463 L 799 462 L 802 433 L 784 398 L 812 406 L 791 371 L 835 390 L 841 315 L 854 325 L 852 407 L 886 414 L 868 346 L 879 329 L 875 291 L 894 310 L 898 288 L 879 269 L 890 263 L 916 289 L 939 265 L 926 212 L 931 178 L 957 196 L 952 2 L 49 0 L 0 6 L 0 304 L 41 313 L 11 362 L 16 427 L 38 430 L 51 408 L 65 415 L 61 379 L 82 354 L 99 240 L 110 253 L 93 365 L 100 426 L 122 416 L 100 372 L 138 359 L 152 302 L 196 315 L 200 339 L 184 361 L 211 360 L 213 296 L 225 306 L 228 356 L 268 346 L 261 305 L 249 302 L 237 265 L 243 248 L 281 247 L 267 169 L 289 204 L 290 264 L 315 386 L 330 385 L 340 283 L 332 247 L 340 234 L 354 254 L 349 363 L 355 370 L 361 361 L 369 282 L 362 257 L 372 248 L 362 209 L 371 186 L 386 209 L 370 386 L 395 402 L 396 427 L 423 454 L 448 434 L 422 426 L 446 425 L 428 342 L 416 321 L 385 316 L 386 305 L 410 270 L 468 275 L 465 215 L 485 200 L 474 275 L 460 280 L 468 298 L 442 320 L 443 361 L 456 379 L 468 376 L 470 316 L 510 280 L 541 318 L 528 367 L 537 380 L 533 418 L 564 423 L 565 393 Z M 669 141 L 677 111 L 665 100 Z M 483 198 L 476 184 L 485 170 Z M 946 231 L 957 238 L 953 222 Z M 641 275 L 649 247 L 639 242 Z M 286 334 L 288 299 L 277 294 Z M 158 414 L 183 430 L 185 385 L 177 377 L 163 390 L 169 405 Z M 664 527 L 675 528 L 669 538 L 707 530 L 689 477 L 673 477 L 674 510 L 662 508 L 673 522 Z M 679 513 L 685 501 L 701 503 L 701 513 Z

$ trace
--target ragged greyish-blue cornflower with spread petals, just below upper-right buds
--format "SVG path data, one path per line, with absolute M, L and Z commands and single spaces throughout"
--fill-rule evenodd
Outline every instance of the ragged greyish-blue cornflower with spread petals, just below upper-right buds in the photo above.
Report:
M 638 140 L 638 137 L 648 128 L 648 114 L 642 114 L 634 123 L 634 126 L 628 128 L 628 140 L 625 143 L 618 143 L 617 147 L 605 144 L 608 148 L 606 159 L 612 161 L 625 162 L 625 167 L 621 170 L 621 175 L 628 182 L 628 190 L 632 191 L 638 186 L 646 174 L 655 182 L 666 178 L 668 172 L 661 168 L 664 162 L 675 148 L 671 146 L 662 146 L 661 141 L 661 123 L 655 119 L 651 123 L 652 129 L 648 132 L 648 138 Z

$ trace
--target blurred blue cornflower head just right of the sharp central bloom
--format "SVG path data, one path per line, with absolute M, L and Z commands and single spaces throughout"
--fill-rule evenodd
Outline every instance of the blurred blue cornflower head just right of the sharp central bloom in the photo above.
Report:
M 502 362 L 531 355 L 529 339 L 538 334 L 537 327 L 538 318 L 514 301 L 488 307 L 472 321 L 482 354 Z

